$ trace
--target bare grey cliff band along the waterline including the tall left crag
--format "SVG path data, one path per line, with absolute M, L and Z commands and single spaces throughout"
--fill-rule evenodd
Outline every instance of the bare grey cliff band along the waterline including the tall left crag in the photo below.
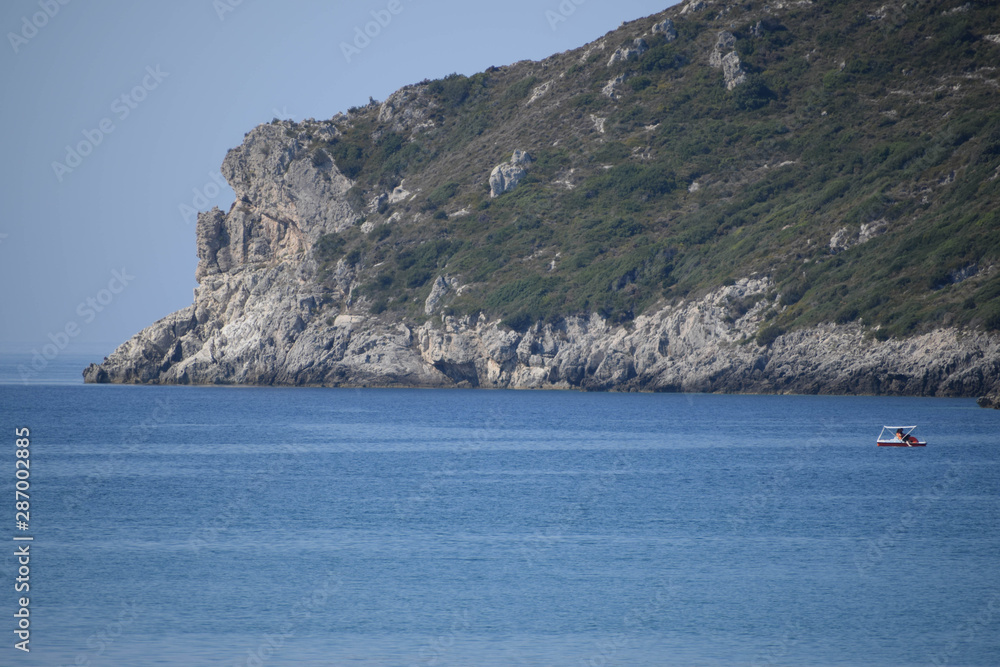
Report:
M 330 163 L 284 171 L 298 150 L 264 126 L 230 152 L 224 170 L 239 199 L 199 217 L 194 303 L 91 365 L 86 381 L 976 396 L 1000 378 L 1000 344 L 985 334 L 879 342 L 828 324 L 758 341 L 783 308 L 765 277 L 628 326 L 591 315 L 517 332 L 485 315 L 417 324 L 354 309 L 347 262 L 333 289 L 320 287 L 302 252 L 356 222 L 343 201 L 349 181 Z M 435 285 L 432 313 L 456 289 L 443 277 Z

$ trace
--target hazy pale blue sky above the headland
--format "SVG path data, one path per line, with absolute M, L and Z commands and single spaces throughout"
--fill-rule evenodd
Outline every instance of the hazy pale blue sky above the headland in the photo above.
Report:
M 180 207 L 228 208 L 213 174 L 255 125 L 544 58 L 671 4 L 5 0 L 0 351 L 54 338 L 107 354 L 190 304 L 195 228 Z M 375 17 L 384 27 L 348 58 L 342 44 Z

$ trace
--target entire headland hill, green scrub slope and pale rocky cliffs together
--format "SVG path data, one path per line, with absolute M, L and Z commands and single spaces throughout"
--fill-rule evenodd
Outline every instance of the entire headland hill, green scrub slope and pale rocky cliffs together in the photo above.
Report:
M 985 393 L 998 65 L 991 3 L 692 0 L 275 120 L 226 157 L 233 209 L 199 219 L 191 313 L 87 377 Z M 359 336 L 394 361 L 345 361 Z M 556 363 L 560 340 L 583 347 Z

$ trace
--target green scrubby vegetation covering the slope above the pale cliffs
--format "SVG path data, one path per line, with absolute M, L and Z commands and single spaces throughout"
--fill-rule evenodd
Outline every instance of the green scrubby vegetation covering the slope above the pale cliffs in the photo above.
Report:
M 759 274 L 782 304 L 764 338 L 819 322 L 1000 329 L 1000 44 L 986 39 L 1000 6 L 869 4 L 672 9 L 542 62 L 419 84 L 419 125 L 352 109 L 313 159 L 355 181 L 371 231 L 324 237 L 316 257 L 354 265 L 373 311 L 417 319 L 443 274 L 469 286 L 448 313 L 515 328 L 628 322 Z M 649 34 L 666 17 L 676 40 Z M 747 74 L 732 91 L 708 65 L 720 30 Z M 609 66 L 638 36 L 648 50 Z M 514 149 L 528 175 L 491 198 Z M 414 197 L 372 204 L 404 179 Z

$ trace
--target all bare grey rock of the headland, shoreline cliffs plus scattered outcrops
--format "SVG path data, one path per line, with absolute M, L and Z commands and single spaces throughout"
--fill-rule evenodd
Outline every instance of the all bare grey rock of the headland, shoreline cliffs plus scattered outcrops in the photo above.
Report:
M 610 67 L 647 57 L 644 40 L 683 40 L 684 30 L 678 37 L 674 20 L 680 24 L 684 14 L 704 7 L 688 3 L 653 17 L 647 21 L 652 28 L 623 27 L 631 32 L 616 34 L 621 48 L 613 50 L 610 38 L 589 45 L 590 51 L 604 53 L 587 62 Z M 702 40 L 706 57 L 700 66 L 722 70 L 724 91 L 749 85 L 751 70 L 741 64 L 736 40 L 728 31 L 713 31 Z M 590 51 L 581 49 L 582 58 Z M 536 70 L 544 70 L 543 65 Z M 522 108 L 538 107 L 556 94 L 555 84 L 542 82 L 546 76 L 558 77 L 552 71 L 537 77 Z M 625 94 L 628 77 L 619 78 L 607 84 L 608 104 L 622 103 L 617 98 Z M 1000 337 L 995 332 L 941 325 L 907 336 L 880 336 L 878 326 L 851 317 L 784 327 L 783 314 L 794 300 L 766 269 L 746 270 L 684 295 L 665 293 L 625 321 L 577 312 L 514 326 L 486 308 L 462 312 L 452 304 L 474 294 L 478 283 L 447 266 L 414 288 L 422 290 L 416 308 L 374 307 L 365 286 L 379 263 L 366 264 L 360 255 L 347 253 L 324 261 L 317 248 L 346 232 L 356 234 L 359 244 L 371 244 L 365 239 L 374 238 L 380 227 L 429 220 L 429 210 L 409 205 L 427 196 L 433 178 L 423 183 L 413 174 L 388 183 L 383 178 L 358 196 L 359 175 L 338 166 L 333 149 L 322 146 L 344 141 L 344 128 L 359 113 L 377 118 L 375 134 L 401 133 L 413 142 L 433 132 L 443 121 L 427 90 L 426 82 L 408 87 L 377 107 L 329 122 L 276 120 L 250 131 L 222 165 L 235 203 L 228 211 L 216 208 L 198 217 L 194 302 L 91 365 L 85 380 L 983 396 L 982 405 L 1000 404 Z M 600 142 L 604 121 L 595 113 L 580 118 L 581 127 Z M 469 201 L 500 200 L 522 182 L 537 180 L 535 171 L 545 169 L 545 155 L 538 151 L 517 138 L 499 146 L 493 160 L 471 170 L 469 181 L 480 190 L 478 199 Z M 536 164 L 538 157 L 543 160 Z M 568 191 L 579 183 L 574 169 L 563 169 L 553 173 L 550 185 Z M 691 178 L 686 190 L 692 194 L 681 192 L 693 197 L 699 187 Z M 468 216 L 456 203 L 436 219 Z M 887 224 L 878 219 L 848 229 L 832 221 L 828 229 L 835 233 L 825 237 L 828 244 L 820 244 L 826 246 L 824 257 L 885 233 Z M 543 260 L 548 266 L 540 270 L 555 271 L 560 255 L 538 261 Z M 992 268 L 977 273 L 982 279 L 992 275 Z M 626 276 L 614 289 L 634 289 L 630 280 L 637 279 Z

